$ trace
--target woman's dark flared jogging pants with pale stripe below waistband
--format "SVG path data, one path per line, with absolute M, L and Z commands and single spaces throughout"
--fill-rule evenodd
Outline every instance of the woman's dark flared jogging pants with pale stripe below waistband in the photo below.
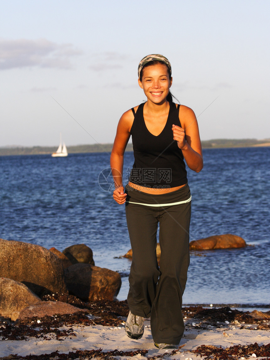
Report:
M 127 188 L 127 201 L 166 204 L 190 197 L 189 186 L 162 195 L 150 195 Z M 189 266 L 189 224 L 191 202 L 150 207 L 126 202 L 132 264 L 127 297 L 132 314 L 151 316 L 156 343 L 178 345 L 184 333 L 182 296 Z M 156 246 L 159 222 L 161 259 Z

